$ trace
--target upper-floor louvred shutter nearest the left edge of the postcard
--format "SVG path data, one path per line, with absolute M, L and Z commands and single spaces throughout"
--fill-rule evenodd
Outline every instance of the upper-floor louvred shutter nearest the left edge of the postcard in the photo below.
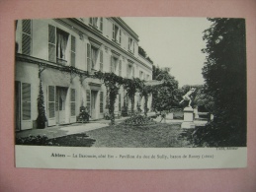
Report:
M 32 21 L 22 21 L 22 53 L 31 55 L 32 51 Z

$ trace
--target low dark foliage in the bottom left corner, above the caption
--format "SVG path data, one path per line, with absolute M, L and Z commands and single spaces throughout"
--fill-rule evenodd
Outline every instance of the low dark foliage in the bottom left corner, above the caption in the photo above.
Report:
M 54 140 L 49 140 L 45 135 L 29 137 L 17 137 L 15 140 L 16 145 L 32 145 L 32 146 L 58 146 Z

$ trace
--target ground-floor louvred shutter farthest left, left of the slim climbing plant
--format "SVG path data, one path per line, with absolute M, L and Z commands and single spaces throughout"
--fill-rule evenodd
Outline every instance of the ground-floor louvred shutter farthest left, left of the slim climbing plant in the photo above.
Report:
M 31 84 L 22 84 L 23 120 L 31 120 Z

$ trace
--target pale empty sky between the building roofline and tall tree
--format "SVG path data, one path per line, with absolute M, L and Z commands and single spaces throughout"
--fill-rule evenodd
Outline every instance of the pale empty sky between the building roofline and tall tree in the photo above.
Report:
M 171 75 L 184 85 L 203 85 L 202 68 L 206 54 L 203 32 L 210 28 L 207 18 L 137 17 L 122 18 L 139 36 L 138 45 L 154 65 L 170 67 Z

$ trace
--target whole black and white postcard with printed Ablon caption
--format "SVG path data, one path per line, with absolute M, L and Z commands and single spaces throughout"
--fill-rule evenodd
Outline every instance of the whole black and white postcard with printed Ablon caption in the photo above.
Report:
M 16 165 L 246 166 L 245 25 L 242 18 L 17 20 Z M 224 164 L 229 155 L 235 162 Z

